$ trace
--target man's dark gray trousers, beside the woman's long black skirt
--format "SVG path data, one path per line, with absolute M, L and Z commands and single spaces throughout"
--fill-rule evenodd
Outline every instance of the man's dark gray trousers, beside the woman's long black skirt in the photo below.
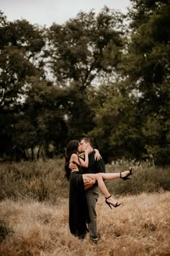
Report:
M 91 236 L 91 239 L 95 240 L 97 236 L 97 213 L 95 210 L 96 202 L 99 198 L 99 188 L 93 187 L 86 190 L 86 200 L 89 208 L 90 223 L 88 223 L 88 229 Z

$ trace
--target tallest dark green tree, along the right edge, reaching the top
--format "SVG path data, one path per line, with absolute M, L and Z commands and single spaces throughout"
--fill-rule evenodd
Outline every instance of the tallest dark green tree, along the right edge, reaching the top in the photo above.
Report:
M 143 155 L 158 164 L 169 163 L 170 1 L 132 3 L 124 67 L 127 85 L 138 100 Z

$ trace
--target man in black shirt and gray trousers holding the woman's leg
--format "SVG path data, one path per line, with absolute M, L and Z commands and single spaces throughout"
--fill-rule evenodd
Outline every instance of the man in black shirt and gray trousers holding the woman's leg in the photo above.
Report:
M 89 167 L 83 168 L 84 174 L 97 174 L 99 172 L 105 172 L 105 165 L 102 158 L 99 160 L 95 160 L 95 150 L 92 145 L 91 138 L 84 137 L 81 139 L 80 142 L 80 150 L 81 152 L 84 152 L 87 147 L 91 146 L 91 153 L 89 153 Z M 89 234 L 91 241 L 93 243 L 98 242 L 98 235 L 97 235 L 97 213 L 96 213 L 96 203 L 99 198 L 99 188 L 97 187 L 97 184 L 94 184 L 93 187 L 86 190 L 86 200 L 87 205 L 89 208 L 89 217 L 90 217 L 90 223 L 88 224 Z

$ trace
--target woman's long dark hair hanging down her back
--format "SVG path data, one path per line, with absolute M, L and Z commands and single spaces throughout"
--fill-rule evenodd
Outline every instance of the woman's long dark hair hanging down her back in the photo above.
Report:
M 71 155 L 73 153 L 77 153 L 79 147 L 79 140 L 70 140 L 66 147 L 65 151 L 65 171 L 66 171 L 66 178 L 69 180 L 71 169 L 68 167 L 71 159 Z

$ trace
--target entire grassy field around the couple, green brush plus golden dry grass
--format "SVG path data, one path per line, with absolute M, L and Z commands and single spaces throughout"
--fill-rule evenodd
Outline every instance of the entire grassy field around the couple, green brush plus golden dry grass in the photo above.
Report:
M 99 197 L 97 245 L 68 229 L 68 182 L 63 159 L 0 164 L 1 256 L 170 255 L 169 166 L 117 161 L 109 172 L 133 166 L 130 181 L 107 181 L 122 205 L 110 210 Z

